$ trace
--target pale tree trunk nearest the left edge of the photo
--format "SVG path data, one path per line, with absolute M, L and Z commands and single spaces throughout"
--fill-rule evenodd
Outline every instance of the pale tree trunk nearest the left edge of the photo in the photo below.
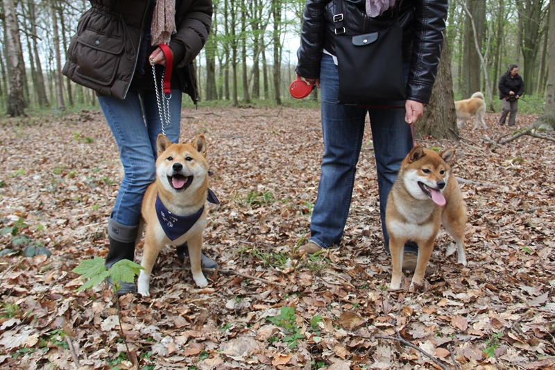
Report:
M 23 69 L 19 55 L 21 42 L 19 41 L 19 28 L 15 14 L 14 0 L 3 0 L 4 17 L 6 17 L 6 49 L 8 57 L 8 72 L 10 76 L 10 95 L 8 97 L 8 115 L 10 117 L 25 115 L 23 96 Z

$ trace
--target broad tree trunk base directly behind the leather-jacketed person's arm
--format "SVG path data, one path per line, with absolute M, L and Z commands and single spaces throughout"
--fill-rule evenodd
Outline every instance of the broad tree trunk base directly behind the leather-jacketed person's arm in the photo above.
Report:
M 415 137 L 433 136 L 436 139 L 459 140 L 447 38 L 443 39 L 443 49 L 436 83 L 432 89 L 432 98 L 425 106 L 424 115 L 414 125 L 414 135 Z

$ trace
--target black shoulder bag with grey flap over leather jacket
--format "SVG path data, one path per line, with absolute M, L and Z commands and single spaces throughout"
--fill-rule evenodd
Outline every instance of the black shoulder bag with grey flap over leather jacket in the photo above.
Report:
M 345 36 L 343 0 L 336 2 L 335 51 L 339 68 L 338 103 L 368 104 L 399 101 L 406 96 L 399 6 L 395 24 L 382 31 Z

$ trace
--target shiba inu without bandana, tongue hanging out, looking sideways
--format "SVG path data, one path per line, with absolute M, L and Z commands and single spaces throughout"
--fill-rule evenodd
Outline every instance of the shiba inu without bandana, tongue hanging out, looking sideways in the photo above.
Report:
M 441 224 L 456 242 L 458 262 L 466 266 L 466 208 L 449 165 L 454 153 L 454 149 L 436 153 L 417 145 L 401 163 L 386 205 L 393 267 L 391 289 L 401 287 L 403 249 L 408 241 L 418 244 L 418 262 L 409 289 L 423 285 Z

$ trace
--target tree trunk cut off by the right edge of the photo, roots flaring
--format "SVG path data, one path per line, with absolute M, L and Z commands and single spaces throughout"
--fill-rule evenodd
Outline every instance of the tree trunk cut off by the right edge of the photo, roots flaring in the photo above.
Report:
M 549 24 L 555 24 L 555 1 L 549 2 Z M 547 62 L 547 88 L 543 114 L 534 122 L 535 127 L 555 128 L 555 27 L 549 27 L 549 60 Z

